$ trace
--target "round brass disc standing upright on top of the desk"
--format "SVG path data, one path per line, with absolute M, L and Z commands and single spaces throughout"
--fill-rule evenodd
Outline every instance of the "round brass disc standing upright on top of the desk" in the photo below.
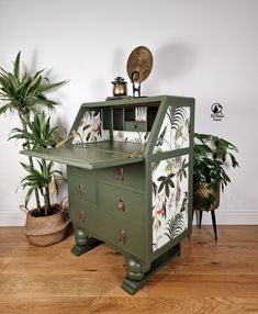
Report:
M 138 72 L 138 77 L 134 76 L 135 82 L 146 80 L 153 68 L 153 55 L 145 46 L 135 48 L 127 60 L 127 75 L 132 80 L 133 72 Z

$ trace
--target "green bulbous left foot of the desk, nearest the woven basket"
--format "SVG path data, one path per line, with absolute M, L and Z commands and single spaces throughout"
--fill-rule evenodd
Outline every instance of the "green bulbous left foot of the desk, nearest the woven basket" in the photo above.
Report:
M 76 256 L 80 256 L 102 243 L 97 238 L 89 237 L 86 231 L 80 227 L 75 227 L 75 242 L 71 253 Z

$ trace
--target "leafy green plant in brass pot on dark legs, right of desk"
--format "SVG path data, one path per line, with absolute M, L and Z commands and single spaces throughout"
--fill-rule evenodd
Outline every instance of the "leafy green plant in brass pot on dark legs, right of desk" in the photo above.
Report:
M 211 211 L 216 237 L 215 213 L 220 205 L 220 194 L 231 182 L 226 166 L 239 167 L 234 156 L 237 147 L 215 135 L 194 134 L 193 144 L 193 209 Z

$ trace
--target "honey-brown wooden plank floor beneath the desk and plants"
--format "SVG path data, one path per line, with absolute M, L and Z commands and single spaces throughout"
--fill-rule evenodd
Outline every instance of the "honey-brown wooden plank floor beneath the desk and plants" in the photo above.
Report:
M 21 228 L 0 228 L 0 313 L 258 313 L 258 226 L 194 228 L 182 254 L 134 296 L 120 285 L 124 259 L 101 245 L 76 257 L 72 235 L 30 246 Z

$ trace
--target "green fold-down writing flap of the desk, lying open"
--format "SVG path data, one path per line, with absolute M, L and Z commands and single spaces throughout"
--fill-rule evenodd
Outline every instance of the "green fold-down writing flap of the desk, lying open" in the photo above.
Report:
M 106 168 L 143 160 L 143 145 L 104 142 L 69 147 L 22 150 L 21 154 L 85 169 Z

